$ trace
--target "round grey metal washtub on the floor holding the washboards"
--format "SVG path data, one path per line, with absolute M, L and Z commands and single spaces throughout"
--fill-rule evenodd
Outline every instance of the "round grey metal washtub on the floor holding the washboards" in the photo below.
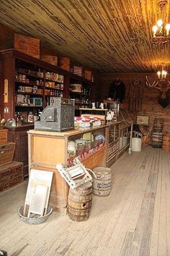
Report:
M 44 223 L 45 221 L 48 220 L 48 217 L 50 216 L 50 214 L 53 212 L 53 208 L 49 205 L 48 206 L 48 213 L 45 216 L 42 217 L 37 217 L 37 218 L 27 218 L 24 217 L 23 214 L 23 209 L 24 209 L 24 205 L 22 206 L 22 208 L 19 209 L 19 218 L 24 221 L 24 223 L 30 224 L 30 225 L 37 225 L 37 224 L 41 224 Z

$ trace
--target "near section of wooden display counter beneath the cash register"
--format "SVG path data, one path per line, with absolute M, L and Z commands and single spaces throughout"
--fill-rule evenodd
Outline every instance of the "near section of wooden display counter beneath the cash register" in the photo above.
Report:
M 73 158 L 77 156 L 86 168 L 105 166 L 107 134 L 108 126 L 68 132 L 45 132 L 35 129 L 28 132 L 30 168 L 53 171 L 50 204 L 54 208 L 66 212 L 68 197 L 68 185 L 55 168 L 56 163 L 71 165 Z M 71 155 L 68 150 L 69 142 L 77 143 L 75 155 Z

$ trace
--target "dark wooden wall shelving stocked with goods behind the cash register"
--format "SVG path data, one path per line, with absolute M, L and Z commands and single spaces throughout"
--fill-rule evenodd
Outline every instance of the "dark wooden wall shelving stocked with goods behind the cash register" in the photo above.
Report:
M 7 88 L 5 102 L 1 96 L 0 113 L 6 120 L 33 122 L 54 97 L 75 98 L 76 108 L 89 106 L 94 98 L 94 82 L 14 49 L 0 51 L 0 69 L 0 95 Z M 73 83 L 80 84 L 81 90 L 71 91 Z

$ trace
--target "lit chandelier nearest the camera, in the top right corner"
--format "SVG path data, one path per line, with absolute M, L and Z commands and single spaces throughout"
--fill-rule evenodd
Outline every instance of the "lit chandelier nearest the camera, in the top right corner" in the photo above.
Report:
M 158 1 L 158 7 L 162 11 L 167 4 L 167 0 Z M 163 20 L 158 20 L 156 25 L 152 27 L 153 30 L 153 38 L 151 38 L 151 43 L 155 45 L 163 45 L 168 43 L 170 40 L 170 24 L 167 23 L 164 26 Z

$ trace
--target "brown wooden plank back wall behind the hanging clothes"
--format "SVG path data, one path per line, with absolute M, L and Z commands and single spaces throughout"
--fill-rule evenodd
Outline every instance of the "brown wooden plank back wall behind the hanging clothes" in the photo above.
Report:
M 146 75 L 153 82 L 156 79 L 156 74 L 151 73 L 102 73 L 99 75 L 99 91 L 97 99 L 103 101 L 104 97 L 109 93 L 109 85 L 117 77 L 125 83 L 125 100 L 122 101 L 122 107 L 128 108 L 128 92 L 133 80 L 140 80 L 143 85 L 143 101 L 141 111 L 130 111 L 130 115 L 135 123 L 137 114 L 148 115 L 149 124 L 153 126 L 155 117 L 164 119 L 164 132 L 170 132 L 170 104 L 163 108 L 158 104 L 159 91 L 146 86 Z

